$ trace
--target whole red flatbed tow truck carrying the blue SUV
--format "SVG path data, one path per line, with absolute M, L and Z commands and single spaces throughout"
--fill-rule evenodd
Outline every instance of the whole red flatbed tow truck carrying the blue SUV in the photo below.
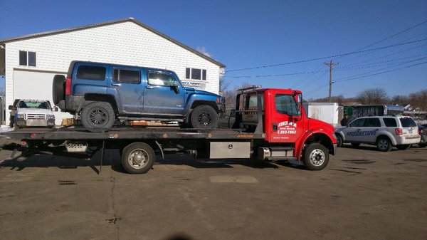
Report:
M 21 140 L 19 149 L 31 155 L 54 145 L 68 152 L 88 152 L 97 147 L 119 149 L 127 172 L 152 169 L 155 155 L 166 150 L 185 151 L 211 159 L 251 158 L 287 160 L 310 170 L 324 169 L 335 154 L 334 127 L 307 118 L 300 90 L 248 87 L 240 89 L 228 127 L 214 130 L 178 127 L 113 127 L 108 132 L 88 132 L 83 127 L 20 129 L 7 132 Z M 57 147 L 55 147 L 57 149 Z M 101 157 L 102 166 L 102 157 Z

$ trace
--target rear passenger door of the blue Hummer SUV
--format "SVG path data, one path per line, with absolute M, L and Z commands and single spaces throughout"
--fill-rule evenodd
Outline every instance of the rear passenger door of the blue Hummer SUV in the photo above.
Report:
M 144 87 L 138 68 L 113 68 L 112 88 L 120 98 L 120 105 L 126 113 L 141 113 L 144 108 Z

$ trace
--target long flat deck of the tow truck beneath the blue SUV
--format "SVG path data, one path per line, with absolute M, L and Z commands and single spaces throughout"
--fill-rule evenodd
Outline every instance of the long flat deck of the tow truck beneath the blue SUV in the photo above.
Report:
M 178 127 L 117 128 L 107 132 L 89 132 L 83 127 L 53 129 L 23 128 L 3 135 L 19 140 L 160 140 L 160 139 L 212 139 L 212 140 L 262 140 L 264 133 L 245 132 L 240 129 L 215 130 L 180 129 Z

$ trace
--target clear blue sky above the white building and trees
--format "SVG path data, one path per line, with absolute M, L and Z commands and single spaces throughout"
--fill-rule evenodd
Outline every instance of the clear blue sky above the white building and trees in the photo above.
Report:
M 226 65 L 241 85 L 306 99 L 427 89 L 427 1 L 1 0 L 0 39 L 134 17 Z M 4 83 L 2 83 L 4 86 Z

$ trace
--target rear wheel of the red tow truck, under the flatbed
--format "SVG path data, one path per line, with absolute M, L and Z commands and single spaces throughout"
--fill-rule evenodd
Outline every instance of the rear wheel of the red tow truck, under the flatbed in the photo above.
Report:
M 152 169 L 154 150 L 144 142 L 134 142 L 122 150 L 122 166 L 129 173 L 142 174 Z

